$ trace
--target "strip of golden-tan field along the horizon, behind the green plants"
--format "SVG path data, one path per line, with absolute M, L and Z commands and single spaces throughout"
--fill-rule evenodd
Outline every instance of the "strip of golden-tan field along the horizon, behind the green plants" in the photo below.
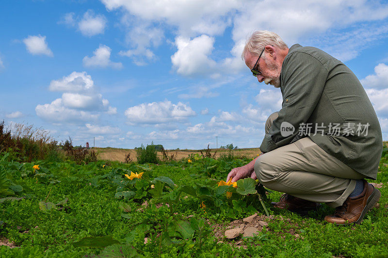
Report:
M 116 148 L 93 148 L 97 151 L 99 160 L 109 160 L 109 161 L 124 161 L 125 155 L 130 153 L 130 157 L 133 161 L 136 161 L 136 150 L 134 149 L 116 149 Z M 215 157 L 219 158 L 220 155 L 226 155 L 228 150 L 226 149 L 211 149 L 211 154 L 216 152 Z M 199 150 L 169 150 L 168 155 L 174 154 L 174 159 L 180 160 L 189 157 L 191 153 L 198 153 L 201 155 Z M 260 154 L 259 148 L 248 148 L 248 149 L 236 149 L 232 150 L 234 156 L 247 158 L 257 157 Z M 162 159 L 162 152 L 158 151 L 158 157 Z

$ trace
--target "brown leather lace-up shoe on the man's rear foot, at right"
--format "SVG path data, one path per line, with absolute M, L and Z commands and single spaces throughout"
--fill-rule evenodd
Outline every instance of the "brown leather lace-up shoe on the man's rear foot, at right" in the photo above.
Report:
M 364 179 L 364 191 L 356 197 L 348 197 L 342 206 L 336 208 L 334 214 L 325 216 L 324 220 L 336 224 L 360 224 L 380 196 L 380 191 Z

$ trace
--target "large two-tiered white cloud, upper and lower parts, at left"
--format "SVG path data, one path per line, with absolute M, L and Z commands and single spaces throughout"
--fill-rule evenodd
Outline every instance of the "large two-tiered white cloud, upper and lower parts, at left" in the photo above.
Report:
M 109 106 L 109 101 L 97 92 L 86 72 L 72 72 L 60 80 L 53 80 L 49 90 L 64 93 L 50 104 L 37 105 L 35 112 L 51 122 L 93 121 L 101 113 L 117 113 L 117 109 Z

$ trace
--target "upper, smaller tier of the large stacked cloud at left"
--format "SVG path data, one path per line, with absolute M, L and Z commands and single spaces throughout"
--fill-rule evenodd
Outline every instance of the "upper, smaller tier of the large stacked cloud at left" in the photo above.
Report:
M 64 76 L 61 80 L 53 80 L 50 82 L 50 91 L 68 91 L 82 92 L 93 89 L 92 77 L 86 72 L 72 72 L 68 76 Z

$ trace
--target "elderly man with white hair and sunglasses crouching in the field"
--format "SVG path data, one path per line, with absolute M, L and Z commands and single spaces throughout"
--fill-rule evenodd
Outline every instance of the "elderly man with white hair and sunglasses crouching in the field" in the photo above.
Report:
M 376 179 L 383 144 L 357 77 L 324 51 L 288 48 L 268 31 L 249 37 L 242 59 L 259 82 L 280 88 L 283 102 L 265 123 L 263 154 L 226 180 L 258 178 L 286 193 L 276 208 L 306 213 L 326 203 L 336 211 L 325 221 L 360 223 L 381 195 L 364 178 Z

